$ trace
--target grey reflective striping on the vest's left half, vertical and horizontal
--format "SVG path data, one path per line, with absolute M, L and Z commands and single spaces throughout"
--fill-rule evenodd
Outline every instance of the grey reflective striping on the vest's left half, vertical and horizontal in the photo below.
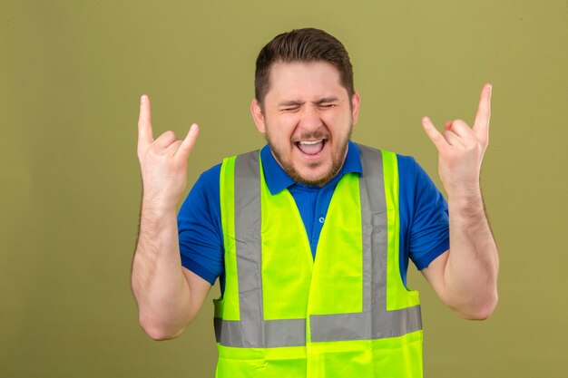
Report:
M 259 151 L 235 160 L 235 248 L 240 321 L 214 319 L 217 342 L 269 348 L 306 344 L 306 319 L 263 320 Z

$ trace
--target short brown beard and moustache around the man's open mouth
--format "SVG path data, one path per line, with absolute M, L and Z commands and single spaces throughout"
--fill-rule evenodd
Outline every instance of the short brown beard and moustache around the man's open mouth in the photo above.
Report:
M 333 179 L 338 174 L 339 170 L 341 170 L 341 167 L 343 167 L 343 163 L 345 162 L 345 158 L 347 156 L 346 154 L 348 151 L 348 144 L 349 140 L 351 139 L 352 132 L 353 132 L 353 125 L 350 125 L 347 137 L 342 141 L 339 141 L 338 153 L 331 157 L 332 160 L 331 167 L 329 168 L 328 172 L 326 172 L 326 174 L 320 179 L 308 179 L 301 176 L 298 170 L 294 168 L 294 165 L 292 164 L 291 160 L 287 161 L 282 159 L 282 152 L 277 148 L 277 146 L 274 143 L 270 141 L 268 128 L 267 132 L 264 135 L 264 138 L 269 143 L 269 148 L 272 151 L 274 158 L 279 163 L 279 166 L 282 167 L 282 170 L 284 170 L 291 179 L 293 179 L 296 182 L 300 182 L 302 184 L 322 187 L 325 184 L 327 184 L 331 179 Z M 309 138 L 319 139 L 322 138 L 323 136 L 324 135 L 321 132 L 316 131 L 314 133 L 302 134 L 301 137 L 302 139 L 309 139 Z M 328 141 L 326 141 L 326 143 L 328 143 Z M 318 163 L 313 163 L 308 167 L 316 168 L 318 167 Z

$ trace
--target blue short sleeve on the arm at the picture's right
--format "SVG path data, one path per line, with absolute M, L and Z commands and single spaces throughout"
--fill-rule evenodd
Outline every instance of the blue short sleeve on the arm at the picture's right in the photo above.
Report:
M 402 157 L 399 164 L 410 174 L 406 193 L 410 208 L 406 243 L 408 256 L 418 270 L 427 267 L 449 247 L 449 220 L 446 199 L 412 157 Z

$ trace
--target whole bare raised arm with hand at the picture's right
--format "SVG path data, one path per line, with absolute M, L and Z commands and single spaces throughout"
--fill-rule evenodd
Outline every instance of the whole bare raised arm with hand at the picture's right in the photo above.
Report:
M 473 127 L 448 121 L 440 133 L 429 118 L 422 119 L 439 153 L 450 221 L 450 249 L 422 272 L 440 299 L 467 319 L 485 319 L 497 304 L 499 258 L 479 184 L 490 112 L 491 84 L 485 84 Z

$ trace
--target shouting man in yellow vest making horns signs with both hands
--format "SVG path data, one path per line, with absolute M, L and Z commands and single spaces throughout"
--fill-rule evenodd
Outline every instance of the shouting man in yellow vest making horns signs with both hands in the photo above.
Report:
M 219 276 L 219 377 L 421 376 L 408 257 L 458 315 L 485 319 L 497 301 L 479 188 L 490 97 L 486 84 L 471 128 L 455 120 L 439 133 L 422 120 L 446 205 L 412 158 L 349 141 L 359 95 L 343 45 L 317 29 L 280 34 L 260 52 L 250 107 L 268 146 L 204 172 L 176 222 L 198 127 L 154 141 L 142 96 L 132 263 L 142 328 L 181 334 Z

